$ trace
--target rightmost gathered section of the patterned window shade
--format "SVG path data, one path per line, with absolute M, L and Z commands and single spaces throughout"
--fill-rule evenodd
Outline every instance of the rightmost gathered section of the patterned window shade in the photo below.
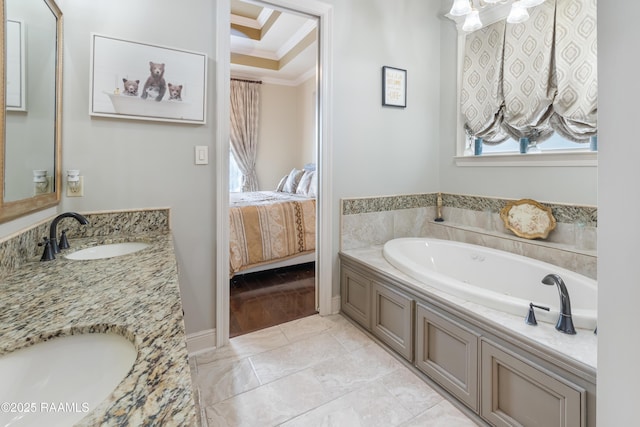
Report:
M 596 12 L 596 0 L 558 0 L 558 94 L 552 123 L 558 133 L 576 142 L 588 142 L 598 131 Z

